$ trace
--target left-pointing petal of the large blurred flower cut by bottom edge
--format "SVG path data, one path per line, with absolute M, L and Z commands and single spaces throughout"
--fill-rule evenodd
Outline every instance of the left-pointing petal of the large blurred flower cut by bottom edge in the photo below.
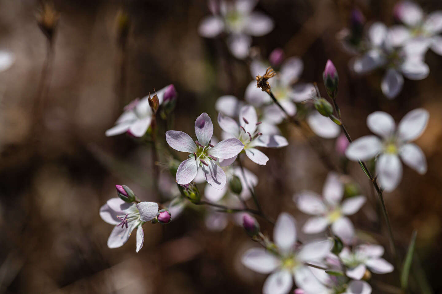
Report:
M 250 248 L 241 257 L 244 266 L 260 274 L 271 273 L 278 267 L 278 258 L 267 252 L 264 248 Z

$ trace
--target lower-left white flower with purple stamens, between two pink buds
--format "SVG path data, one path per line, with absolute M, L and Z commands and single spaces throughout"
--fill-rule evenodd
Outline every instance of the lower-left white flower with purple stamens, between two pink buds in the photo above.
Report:
M 151 221 L 158 213 L 155 202 L 127 203 L 119 198 L 109 199 L 100 208 L 100 217 L 108 224 L 115 225 L 107 239 L 107 247 L 118 248 L 129 240 L 133 229 L 137 229 L 137 252 L 143 247 L 144 232 L 141 225 Z

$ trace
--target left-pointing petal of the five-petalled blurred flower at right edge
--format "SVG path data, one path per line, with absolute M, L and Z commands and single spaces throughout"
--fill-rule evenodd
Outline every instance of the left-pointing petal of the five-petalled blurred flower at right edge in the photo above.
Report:
M 360 137 L 348 145 L 345 155 L 350 160 L 367 160 L 382 151 L 382 142 L 374 135 Z

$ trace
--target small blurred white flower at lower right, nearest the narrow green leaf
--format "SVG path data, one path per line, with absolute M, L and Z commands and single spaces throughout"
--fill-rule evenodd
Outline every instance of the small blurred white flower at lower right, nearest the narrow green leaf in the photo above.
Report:
M 355 280 L 364 276 L 366 269 L 375 274 L 392 272 L 394 267 L 391 263 L 381 258 L 384 248 L 380 245 L 363 244 L 354 248 L 353 252 L 347 247 L 339 253 L 339 258 L 347 267 L 346 275 Z

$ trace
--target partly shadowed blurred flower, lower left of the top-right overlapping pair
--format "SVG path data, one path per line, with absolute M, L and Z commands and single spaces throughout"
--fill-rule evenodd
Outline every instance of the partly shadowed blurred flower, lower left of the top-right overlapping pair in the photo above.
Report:
M 404 76 L 410 80 L 422 80 L 430 69 L 424 61 L 427 45 L 424 42 L 407 42 L 403 47 L 393 29 L 383 23 L 373 23 L 369 29 L 370 50 L 357 57 L 351 67 L 356 73 L 367 73 L 385 68 L 381 90 L 388 99 L 394 99 L 402 90 Z M 400 48 L 398 48 L 400 47 Z

